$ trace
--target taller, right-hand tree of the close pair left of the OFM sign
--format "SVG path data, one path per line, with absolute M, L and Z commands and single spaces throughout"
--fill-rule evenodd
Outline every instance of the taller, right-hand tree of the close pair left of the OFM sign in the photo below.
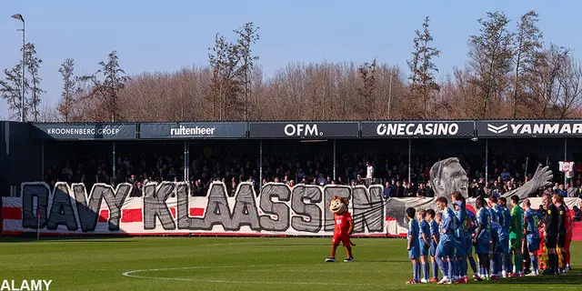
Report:
M 251 96 L 251 73 L 253 72 L 253 67 L 255 62 L 258 61 L 258 55 L 252 55 L 251 45 L 256 44 L 259 39 L 258 29 L 252 22 L 246 23 L 243 27 L 234 30 L 236 35 L 238 35 L 237 46 L 238 46 L 238 58 L 240 59 L 240 65 L 238 67 L 238 72 L 236 75 L 240 78 L 240 82 L 243 84 L 243 93 L 245 95 L 245 115 L 244 120 L 247 117 L 247 103 Z

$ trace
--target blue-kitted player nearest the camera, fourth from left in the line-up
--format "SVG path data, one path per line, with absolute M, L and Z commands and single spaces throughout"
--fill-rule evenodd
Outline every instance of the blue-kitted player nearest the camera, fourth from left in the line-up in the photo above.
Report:
M 457 217 L 453 210 L 448 208 L 448 201 L 446 197 L 440 196 L 437 198 L 438 209 L 442 213 L 442 223 L 440 225 L 440 240 L 437 247 L 437 264 L 443 273 L 443 278 L 438 284 L 452 284 L 455 260 L 455 230 L 457 229 Z M 445 264 L 445 261 L 447 264 Z

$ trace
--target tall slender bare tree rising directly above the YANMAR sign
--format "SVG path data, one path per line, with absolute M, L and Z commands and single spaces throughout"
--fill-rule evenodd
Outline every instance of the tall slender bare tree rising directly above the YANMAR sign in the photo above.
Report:
M 530 11 L 521 16 L 517 23 L 517 33 L 514 41 L 514 88 L 513 88 L 513 118 L 517 118 L 517 106 L 523 90 L 523 76 L 536 68 L 537 55 L 543 48 L 543 35 L 537 27 L 538 15 Z

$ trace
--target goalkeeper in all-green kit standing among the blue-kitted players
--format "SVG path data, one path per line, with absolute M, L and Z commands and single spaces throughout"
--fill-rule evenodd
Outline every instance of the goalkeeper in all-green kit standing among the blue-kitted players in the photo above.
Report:
M 524 238 L 524 209 L 519 206 L 519 196 L 511 196 L 511 225 L 509 225 L 509 247 L 513 253 L 513 274 L 523 276 L 521 246 Z

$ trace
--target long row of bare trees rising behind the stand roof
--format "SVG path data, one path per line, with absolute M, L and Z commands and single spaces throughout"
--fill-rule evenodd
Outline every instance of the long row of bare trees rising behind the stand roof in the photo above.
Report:
M 508 30 L 509 20 L 501 12 L 478 21 L 479 33 L 468 41 L 469 62 L 453 68 L 442 80 L 435 76 L 433 62 L 439 51 L 431 45 L 428 17 L 416 31 L 415 51 L 408 60 L 410 74 L 374 59 L 364 65 L 286 64 L 264 78 L 251 51 L 258 40 L 258 27 L 252 23 L 235 30 L 234 43 L 216 35 L 209 62 L 203 66 L 143 72 L 122 80 L 116 56 L 110 55 L 95 75 L 77 80 L 82 93 L 67 98 L 72 104 L 68 120 L 582 117 L 579 60 L 558 45 L 541 46 L 535 12 L 521 17 L 516 34 Z M 20 68 L 5 70 L 0 86 L 16 114 Z M 25 84 L 30 92 L 28 80 Z M 53 119 L 49 109 L 42 110 L 42 120 Z

